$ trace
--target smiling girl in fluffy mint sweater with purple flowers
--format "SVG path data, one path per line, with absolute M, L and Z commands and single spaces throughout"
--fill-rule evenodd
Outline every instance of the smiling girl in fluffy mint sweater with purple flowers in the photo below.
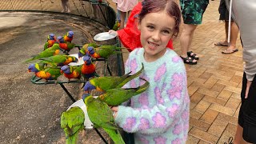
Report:
M 126 73 L 144 65 L 141 78 L 150 82 L 142 94 L 130 98 L 130 106 L 115 106 L 114 120 L 135 143 L 185 143 L 189 129 L 190 98 L 182 59 L 166 48 L 176 37 L 181 13 L 173 0 L 146 0 L 138 15 L 142 48 L 133 50 L 126 62 Z M 125 87 L 143 84 L 139 78 Z

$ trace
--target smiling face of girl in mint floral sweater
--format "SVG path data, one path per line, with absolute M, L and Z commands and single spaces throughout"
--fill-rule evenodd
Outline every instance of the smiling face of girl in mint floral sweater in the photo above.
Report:
M 138 24 L 141 30 L 141 42 L 145 50 L 146 62 L 154 62 L 166 53 L 166 46 L 170 41 L 175 26 L 174 18 L 166 14 L 165 10 L 146 14 Z

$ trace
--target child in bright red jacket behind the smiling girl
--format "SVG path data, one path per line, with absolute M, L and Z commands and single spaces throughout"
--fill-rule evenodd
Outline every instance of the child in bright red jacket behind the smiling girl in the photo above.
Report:
M 134 9 L 130 13 L 130 17 L 128 18 L 128 21 L 126 22 L 126 27 L 121 30 L 110 30 L 110 33 L 116 33 L 118 35 L 119 40 L 122 42 L 122 45 L 127 50 L 132 51 L 135 48 L 142 47 L 141 41 L 140 41 L 140 34 L 141 32 L 138 30 L 138 14 L 142 10 L 142 2 L 138 2 L 136 6 L 134 6 Z M 170 49 L 173 49 L 173 42 L 170 39 L 167 46 Z

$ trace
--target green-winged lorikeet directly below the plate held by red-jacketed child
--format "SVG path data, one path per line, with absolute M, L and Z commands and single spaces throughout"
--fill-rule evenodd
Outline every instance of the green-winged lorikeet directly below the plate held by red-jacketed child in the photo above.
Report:
M 102 45 L 97 48 L 89 46 L 87 48 L 88 53 L 92 58 L 105 58 L 105 59 L 109 58 L 111 54 L 118 54 L 118 51 L 116 51 L 118 49 L 120 50 L 122 48 L 114 45 Z

